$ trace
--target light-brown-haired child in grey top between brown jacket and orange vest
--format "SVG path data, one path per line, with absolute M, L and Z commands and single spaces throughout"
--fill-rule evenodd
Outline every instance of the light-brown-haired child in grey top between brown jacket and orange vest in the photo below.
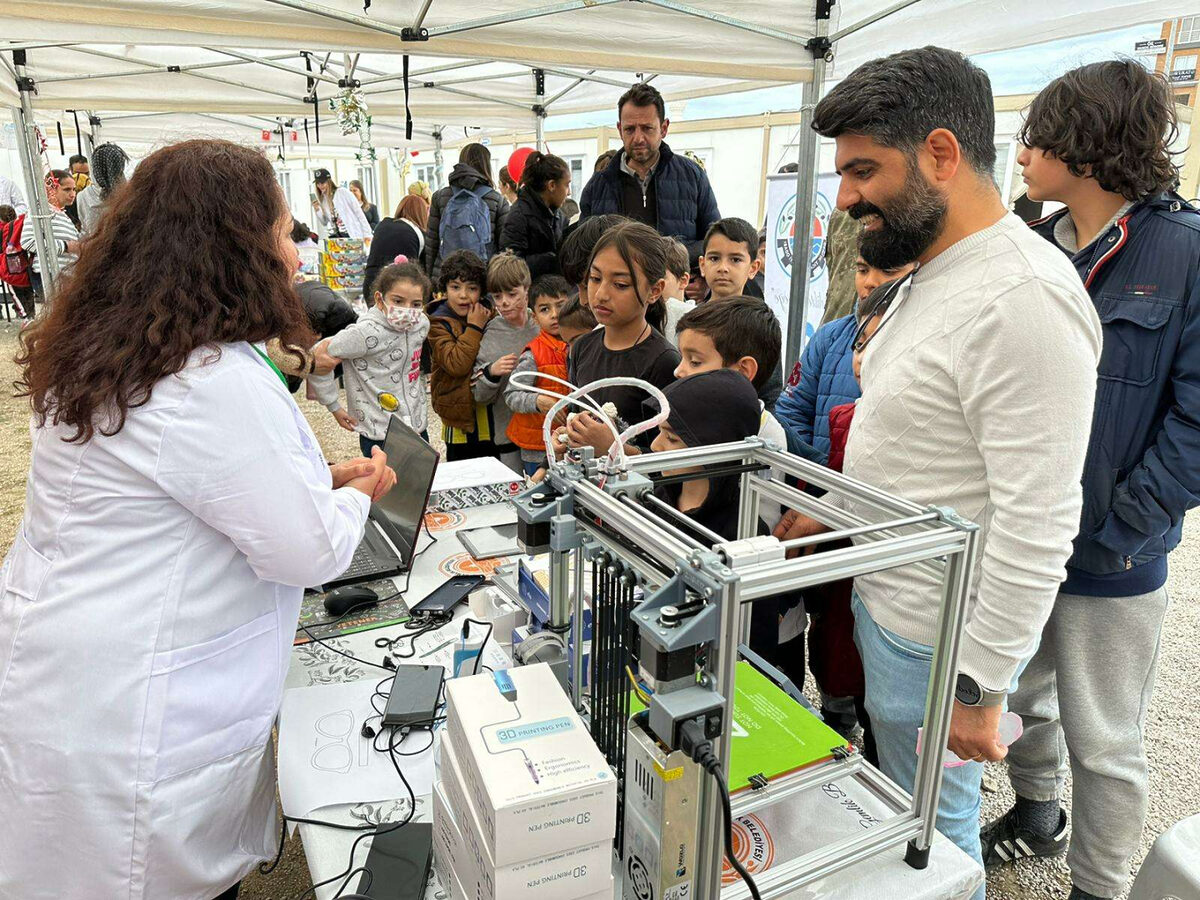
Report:
M 476 404 L 486 407 L 496 456 L 514 472 L 521 472 L 521 448 L 509 436 L 512 410 L 504 402 L 509 376 L 521 352 L 541 329 L 529 312 L 529 266 L 512 253 L 499 253 L 487 264 L 487 293 L 496 317 L 484 329 L 475 358 L 470 392 Z

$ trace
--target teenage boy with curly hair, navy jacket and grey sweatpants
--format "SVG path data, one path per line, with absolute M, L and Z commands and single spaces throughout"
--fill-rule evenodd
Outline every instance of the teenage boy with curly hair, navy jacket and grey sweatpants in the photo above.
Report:
M 1168 84 L 1132 60 L 1076 68 L 1033 101 L 1020 139 L 1033 228 L 1066 252 L 1104 328 L 1084 510 L 1042 643 L 1009 708 L 1016 805 L 985 862 L 1067 852 L 1072 900 L 1112 898 L 1147 806 L 1144 743 L 1166 613 L 1166 556 L 1200 496 L 1200 214 L 1171 191 Z

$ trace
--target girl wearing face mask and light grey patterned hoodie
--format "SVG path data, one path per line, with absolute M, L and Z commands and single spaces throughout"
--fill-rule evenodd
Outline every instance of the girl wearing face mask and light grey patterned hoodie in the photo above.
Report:
M 430 332 L 428 296 L 430 280 L 416 263 L 386 266 L 374 282 L 374 306 L 329 342 L 329 354 L 343 360 L 346 408 L 338 402 L 332 374 L 308 378 L 317 400 L 337 424 L 358 432 L 364 456 L 383 446 L 394 415 L 428 440 L 421 374 L 421 346 Z

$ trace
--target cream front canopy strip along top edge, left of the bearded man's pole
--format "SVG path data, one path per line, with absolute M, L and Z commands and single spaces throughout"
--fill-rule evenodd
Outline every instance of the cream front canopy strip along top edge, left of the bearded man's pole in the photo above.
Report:
M 56 32 L 119 44 L 412 52 L 773 82 L 804 80 L 812 68 L 803 48 L 812 32 L 811 0 L 433 0 L 424 20 L 430 40 L 403 43 L 397 32 L 425 5 L 374 0 L 364 16 L 362 0 L 8 0 L 0 22 L 6 37 L 23 41 Z M 313 7 L 324 12 L 314 14 Z M 503 20 L 547 7 L 565 11 Z M 718 17 L 756 31 L 721 24 Z M 497 23 L 463 30 L 464 23 L 480 20 Z

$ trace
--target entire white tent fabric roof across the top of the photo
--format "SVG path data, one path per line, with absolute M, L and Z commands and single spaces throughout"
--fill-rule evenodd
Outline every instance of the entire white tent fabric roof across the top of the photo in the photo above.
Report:
M 40 116 L 88 109 L 118 126 L 121 113 L 190 114 L 130 119 L 107 132 L 112 139 L 162 136 L 172 126 L 222 133 L 211 116 L 226 119 L 222 127 L 245 131 L 271 127 L 278 116 L 311 119 L 304 50 L 313 54 L 314 68 L 326 65 L 328 80 L 317 88 L 323 144 L 341 137 L 324 101 L 338 90 L 330 82 L 343 73 L 343 53 L 361 54 L 355 77 L 378 146 L 406 144 L 403 82 L 395 77 L 406 53 L 415 54 L 409 59 L 414 142 L 426 145 L 438 126 L 532 130 L 533 67 L 550 67 L 544 96 L 553 114 L 612 109 L 640 76 L 653 79 L 668 102 L 812 76 L 804 43 L 815 32 L 814 0 L 493 0 L 486 7 L 473 0 L 373 0 L 366 16 L 364 1 L 8 0 L 0 34 L 8 47 L 32 44 L 29 72 L 38 85 Z M 894 11 L 838 40 L 829 76 L 844 77 L 866 59 L 905 47 L 1002 50 L 1160 22 L 1193 4 L 1006 0 L 1002 10 L 989 7 L 980 16 L 977 0 L 839 0 L 829 26 L 835 38 Z M 428 40 L 403 41 L 400 32 L 422 7 L 428 8 L 422 22 Z M 46 46 L 58 36 L 82 43 Z M 185 71 L 154 71 L 166 65 Z M 0 106 L 17 102 L 12 77 L 0 70 Z

